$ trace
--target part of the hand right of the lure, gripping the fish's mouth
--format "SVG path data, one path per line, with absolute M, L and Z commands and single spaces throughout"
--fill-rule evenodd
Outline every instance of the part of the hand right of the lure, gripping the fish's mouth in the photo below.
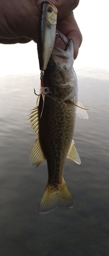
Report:
M 82 35 L 77 26 L 72 10 L 77 7 L 79 0 L 60 0 L 54 2 L 58 9 L 57 29 L 62 33 L 62 36 L 64 36 L 66 39 L 71 38 L 73 41 L 73 57 L 76 59 L 82 42 Z M 60 48 L 63 50 L 65 49 L 65 45 L 60 37 L 56 38 L 55 45 L 60 46 Z

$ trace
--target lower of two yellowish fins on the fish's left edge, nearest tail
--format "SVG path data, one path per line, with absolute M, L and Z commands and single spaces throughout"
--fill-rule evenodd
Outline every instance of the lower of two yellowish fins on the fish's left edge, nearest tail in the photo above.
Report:
M 43 155 L 39 137 L 36 139 L 35 144 L 33 145 L 30 155 L 29 155 L 29 162 L 37 167 L 39 164 L 41 164 L 45 160 L 45 157 Z

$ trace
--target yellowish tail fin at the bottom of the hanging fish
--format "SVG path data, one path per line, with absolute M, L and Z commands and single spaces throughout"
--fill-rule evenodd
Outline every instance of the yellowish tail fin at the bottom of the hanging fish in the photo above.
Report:
M 74 206 L 73 198 L 67 188 L 65 181 L 63 187 L 51 187 L 48 183 L 45 187 L 42 199 L 39 204 L 39 214 L 47 214 L 55 210 L 58 206 L 72 208 Z

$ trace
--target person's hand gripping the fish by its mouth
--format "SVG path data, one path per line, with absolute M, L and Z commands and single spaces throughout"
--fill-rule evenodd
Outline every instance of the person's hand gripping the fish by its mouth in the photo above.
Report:
M 16 44 L 34 40 L 37 42 L 40 4 L 42 0 L 0 0 L 0 43 Z M 82 36 L 72 10 L 79 0 L 54 0 L 58 8 L 57 29 L 71 38 L 74 59 L 77 57 Z M 60 46 L 60 38 L 56 44 Z

